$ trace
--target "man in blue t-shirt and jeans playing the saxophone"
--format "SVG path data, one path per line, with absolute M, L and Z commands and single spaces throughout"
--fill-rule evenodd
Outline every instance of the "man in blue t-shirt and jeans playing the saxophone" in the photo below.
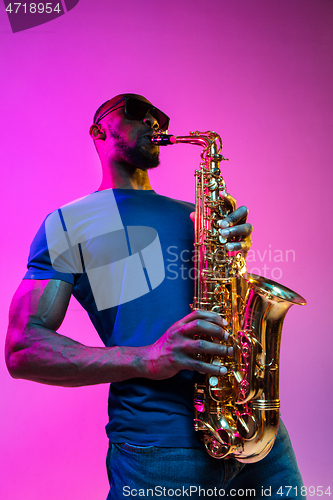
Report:
M 193 430 L 197 372 L 226 373 L 198 354 L 232 353 L 218 342 L 195 340 L 198 334 L 224 340 L 226 324 L 209 311 L 190 313 L 193 263 L 184 255 L 193 249 L 193 205 L 159 196 L 150 186 L 148 170 L 159 163 L 151 136 L 168 123 L 135 94 L 118 95 L 97 110 L 90 134 L 102 164 L 101 186 L 50 214 L 37 233 L 10 310 L 7 366 L 13 377 L 44 384 L 111 382 L 110 499 L 152 496 L 151 488 L 156 498 L 163 494 L 159 488 L 166 488 L 164 496 L 199 498 L 199 487 L 215 488 L 216 498 L 224 496 L 221 488 L 237 496 L 230 488 L 252 487 L 261 498 L 273 485 L 270 496 L 281 498 L 278 485 L 301 485 L 283 425 L 270 455 L 245 467 L 211 458 Z M 232 240 L 230 250 L 250 248 L 246 215 L 238 208 L 221 228 Z M 56 333 L 71 293 L 105 348 Z

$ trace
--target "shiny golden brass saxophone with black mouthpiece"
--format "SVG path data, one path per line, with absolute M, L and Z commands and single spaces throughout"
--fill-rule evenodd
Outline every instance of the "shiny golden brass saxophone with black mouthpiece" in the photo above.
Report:
M 158 145 L 201 146 L 196 170 L 195 291 L 192 310 L 218 313 L 228 322 L 233 356 L 200 355 L 207 363 L 224 365 L 226 375 L 206 375 L 195 384 L 194 427 L 214 458 L 234 457 L 253 463 L 271 450 L 279 426 L 279 356 L 282 324 L 293 304 L 306 301 L 269 279 L 248 274 L 241 252 L 228 252 L 218 221 L 236 206 L 226 198 L 219 164 L 222 141 L 215 132 L 189 136 L 156 134 Z M 207 336 L 206 340 L 217 340 Z M 221 342 L 222 343 L 222 342 Z

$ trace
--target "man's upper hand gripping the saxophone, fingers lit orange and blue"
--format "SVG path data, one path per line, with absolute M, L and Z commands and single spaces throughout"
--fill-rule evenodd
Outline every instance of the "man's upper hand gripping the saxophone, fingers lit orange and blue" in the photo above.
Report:
M 224 198 L 230 202 L 233 208 L 236 207 L 236 201 L 232 196 L 225 195 Z M 241 250 L 244 257 L 246 257 L 252 245 L 251 233 L 253 227 L 246 222 L 247 216 L 248 209 L 242 206 L 218 222 L 221 235 L 228 241 L 227 250 L 229 252 L 239 252 Z M 195 212 L 192 212 L 190 217 L 194 221 Z

